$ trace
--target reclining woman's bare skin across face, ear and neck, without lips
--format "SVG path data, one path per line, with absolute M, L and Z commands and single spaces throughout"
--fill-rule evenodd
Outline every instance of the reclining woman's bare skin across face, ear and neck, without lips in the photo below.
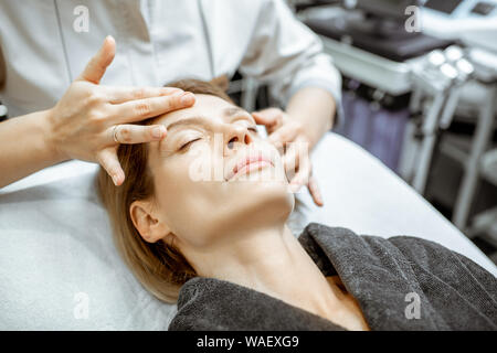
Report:
M 168 137 L 149 145 L 155 195 L 131 204 L 136 228 L 147 242 L 176 246 L 199 276 L 264 292 L 347 329 L 367 330 L 353 298 L 319 271 L 285 224 L 294 195 L 279 152 L 251 130 L 251 115 L 233 108 L 221 98 L 197 95 L 191 108 L 154 121 L 169 127 Z M 172 127 L 199 116 L 201 121 Z M 194 142 L 179 150 L 189 141 Z M 271 156 L 274 168 L 226 181 L 248 150 Z M 222 176 L 192 179 L 191 165 L 199 160 L 221 165 Z

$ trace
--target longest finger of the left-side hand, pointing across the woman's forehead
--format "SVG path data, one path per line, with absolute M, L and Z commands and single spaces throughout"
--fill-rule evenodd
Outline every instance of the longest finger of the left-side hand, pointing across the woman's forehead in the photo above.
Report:
M 183 92 L 163 97 L 130 100 L 115 105 L 114 116 L 120 122 L 136 122 L 171 110 L 187 108 L 195 101 L 192 93 Z

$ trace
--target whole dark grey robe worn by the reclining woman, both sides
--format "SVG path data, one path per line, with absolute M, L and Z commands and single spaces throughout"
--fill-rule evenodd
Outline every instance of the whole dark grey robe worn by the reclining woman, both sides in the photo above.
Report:
M 298 239 L 325 276 L 340 277 L 371 330 L 497 330 L 497 279 L 440 244 L 316 223 Z M 181 288 L 169 330 L 343 328 L 253 289 L 197 277 Z

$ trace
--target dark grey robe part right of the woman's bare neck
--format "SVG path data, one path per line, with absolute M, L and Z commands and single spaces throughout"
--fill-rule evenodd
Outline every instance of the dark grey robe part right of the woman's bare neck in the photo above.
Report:
M 423 322 L 425 328 L 497 328 L 497 279 L 441 244 L 414 236 L 357 235 L 322 224 L 309 224 L 300 236 L 304 246 L 321 252 L 321 268 L 336 268 L 364 306 L 373 300 L 393 310 L 396 303 L 392 312 L 402 312 L 405 296 L 416 293 L 431 320 Z M 462 317 L 454 318 L 454 312 Z

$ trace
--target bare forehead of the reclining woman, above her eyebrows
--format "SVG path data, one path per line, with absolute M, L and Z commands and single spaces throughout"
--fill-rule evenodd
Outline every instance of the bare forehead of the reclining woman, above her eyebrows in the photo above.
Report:
M 155 119 L 154 124 L 163 124 L 168 126 L 169 124 L 192 116 L 202 116 L 210 120 L 224 121 L 228 116 L 232 115 L 230 113 L 236 111 L 240 114 L 247 114 L 245 110 L 222 98 L 211 95 L 195 94 L 195 103 L 193 106 L 161 115 Z

